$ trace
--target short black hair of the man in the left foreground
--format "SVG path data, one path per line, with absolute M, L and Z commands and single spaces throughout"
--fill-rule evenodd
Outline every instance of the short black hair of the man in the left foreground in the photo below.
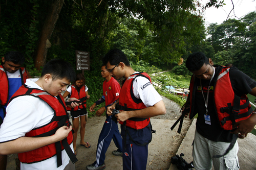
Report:
M 73 82 L 76 79 L 76 72 L 72 65 L 62 59 L 53 59 L 47 62 L 42 68 L 41 77 L 51 74 L 52 80 L 64 79 Z

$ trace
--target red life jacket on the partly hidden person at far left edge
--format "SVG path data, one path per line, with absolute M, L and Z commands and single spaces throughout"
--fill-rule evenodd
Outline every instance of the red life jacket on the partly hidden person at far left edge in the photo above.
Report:
M 22 84 L 26 83 L 26 80 L 28 79 L 28 75 L 25 68 L 19 69 L 20 75 L 23 76 Z M 3 65 L 0 65 L 0 102 L 1 105 L 5 105 L 8 101 L 8 93 L 9 93 L 9 80 L 7 77 L 7 72 Z

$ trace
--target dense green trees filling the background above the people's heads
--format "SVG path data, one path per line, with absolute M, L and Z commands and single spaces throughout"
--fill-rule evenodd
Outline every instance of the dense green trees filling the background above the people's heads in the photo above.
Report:
M 190 0 L 0 0 L 0 5 L 0 54 L 22 52 L 32 75 L 53 58 L 75 66 L 75 50 L 90 52 L 94 71 L 106 52 L 120 48 L 130 61 L 162 69 L 202 51 L 216 64 L 232 62 L 256 77 L 255 12 L 204 27 L 202 9 L 224 1 L 202 6 Z

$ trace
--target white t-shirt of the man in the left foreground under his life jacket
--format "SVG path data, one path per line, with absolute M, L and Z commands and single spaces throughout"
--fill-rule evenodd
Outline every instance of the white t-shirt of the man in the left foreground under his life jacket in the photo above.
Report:
M 31 88 L 42 90 L 36 82 L 38 79 L 27 79 L 26 85 Z M 6 108 L 6 117 L 0 128 L 0 142 L 14 140 L 25 136 L 34 128 L 48 124 L 53 118 L 53 109 L 44 101 L 34 96 L 19 96 L 11 101 Z M 73 143 L 70 148 L 74 152 Z M 53 156 L 44 161 L 35 163 L 20 163 L 20 169 L 64 169 L 69 163 L 69 156 L 66 151 L 61 152 L 62 165 L 57 168 L 57 158 Z

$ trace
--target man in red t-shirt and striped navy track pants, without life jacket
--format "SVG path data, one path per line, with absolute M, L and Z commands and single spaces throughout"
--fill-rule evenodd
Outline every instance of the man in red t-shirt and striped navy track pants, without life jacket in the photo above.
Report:
M 101 76 L 106 79 L 103 82 L 103 95 L 90 107 L 90 112 L 93 112 L 96 105 L 105 102 L 105 107 L 96 111 L 97 116 L 101 116 L 101 114 L 106 110 L 106 107 L 112 105 L 116 100 L 118 100 L 120 92 L 119 83 L 111 77 L 110 72 L 106 70 L 105 65 L 101 66 Z M 122 156 L 122 137 L 119 133 L 117 123 L 112 120 L 112 116 L 106 115 L 106 120 L 98 139 L 96 161 L 87 166 L 88 170 L 105 168 L 105 153 L 109 148 L 112 138 L 118 148 L 112 153 L 116 156 Z

